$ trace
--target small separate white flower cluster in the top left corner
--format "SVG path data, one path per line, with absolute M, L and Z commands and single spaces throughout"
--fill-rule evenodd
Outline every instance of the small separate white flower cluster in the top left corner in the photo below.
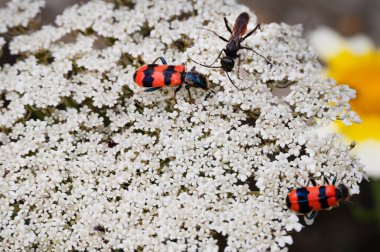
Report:
M 0 8 L 0 34 L 10 28 L 23 26 L 34 18 L 45 6 L 44 0 L 10 0 L 5 8 Z

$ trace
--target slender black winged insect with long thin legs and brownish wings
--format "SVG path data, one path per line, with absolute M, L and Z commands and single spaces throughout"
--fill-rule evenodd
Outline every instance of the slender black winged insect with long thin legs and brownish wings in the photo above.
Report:
M 204 28 L 204 27 L 199 27 L 200 29 L 205 29 L 207 31 L 210 31 L 210 32 L 214 33 L 221 40 L 227 42 L 227 45 L 226 45 L 225 49 L 222 49 L 220 51 L 218 57 L 210 65 L 205 65 L 205 64 L 198 63 L 198 62 L 196 62 L 195 60 L 193 60 L 191 58 L 190 58 L 190 60 L 193 61 L 193 62 L 195 62 L 196 64 L 204 66 L 204 67 L 208 67 L 208 68 L 222 68 L 224 70 L 224 72 L 226 73 L 228 79 L 231 81 L 232 85 L 234 85 L 236 87 L 235 83 L 232 81 L 232 79 L 231 79 L 230 75 L 228 74 L 228 72 L 232 71 L 232 69 L 235 66 L 235 59 L 238 58 L 239 59 L 239 63 L 238 63 L 238 77 L 239 77 L 240 61 L 241 61 L 241 59 L 240 59 L 240 54 L 238 54 L 238 51 L 240 49 L 245 49 L 245 50 L 253 51 L 254 53 L 256 53 L 257 55 L 259 55 L 260 57 L 264 58 L 267 63 L 271 64 L 270 61 L 266 57 L 264 57 L 260 53 L 256 52 L 254 49 L 241 45 L 241 43 L 246 38 L 248 38 L 253 33 L 255 33 L 255 31 L 257 29 L 260 29 L 260 24 L 257 24 L 256 27 L 252 31 L 250 31 L 247 35 L 244 36 L 244 34 L 247 32 L 248 22 L 249 22 L 249 15 L 248 15 L 247 12 L 243 12 L 243 13 L 241 13 L 236 18 L 235 24 L 234 24 L 234 26 L 233 26 L 233 28 L 231 30 L 231 28 L 228 25 L 227 18 L 224 17 L 224 23 L 225 23 L 225 25 L 227 27 L 227 30 L 231 33 L 231 36 L 230 36 L 229 39 L 226 39 L 226 38 L 220 36 L 215 31 L 209 30 L 209 29 Z M 221 57 L 223 52 L 224 52 L 225 56 Z M 221 65 L 220 66 L 213 66 L 215 64 L 215 62 L 219 58 L 220 58 L 220 64 Z

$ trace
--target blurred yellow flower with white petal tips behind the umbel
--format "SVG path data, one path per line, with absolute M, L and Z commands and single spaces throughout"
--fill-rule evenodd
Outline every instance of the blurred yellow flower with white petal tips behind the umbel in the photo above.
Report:
M 380 177 L 380 50 L 364 35 L 344 38 L 326 27 L 315 30 L 310 41 L 326 64 L 326 74 L 357 91 L 350 104 L 362 123 L 334 128 L 358 143 L 355 149 L 368 175 Z

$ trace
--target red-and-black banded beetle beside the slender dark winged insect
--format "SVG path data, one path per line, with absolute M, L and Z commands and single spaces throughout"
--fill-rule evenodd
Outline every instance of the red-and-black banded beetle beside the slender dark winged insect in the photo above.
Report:
M 163 65 L 155 64 L 158 59 L 161 60 Z M 144 92 L 157 91 L 164 86 L 177 87 L 174 91 L 174 99 L 182 85 L 185 84 L 190 102 L 192 102 L 190 87 L 201 88 L 215 93 L 208 87 L 206 77 L 195 71 L 195 67 L 187 72 L 184 65 L 168 65 L 163 57 L 158 57 L 152 64 L 138 69 L 133 75 L 133 80 L 138 86 L 146 88 Z

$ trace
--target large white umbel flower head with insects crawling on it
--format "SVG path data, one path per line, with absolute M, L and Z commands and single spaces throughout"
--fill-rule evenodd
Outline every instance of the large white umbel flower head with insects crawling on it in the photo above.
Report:
M 190 68 L 188 55 L 211 62 L 225 47 L 195 27 L 228 36 L 223 17 L 243 11 L 256 23 L 234 1 L 168 2 L 74 5 L 9 41 L 19 59 L 0 70 L 2 250 L 286 250 L 302 229 L 290 190 L 338 176 L 359 192 L 350 147 L 317 134 L 359 121 L 355 92 L 321 77 L 300 26 L 263 25 L 244 42 L 272 64 L 242 51 L 241 90 L 197 66 L 216 92 L 207 101 L 140 93 L 141 65 Z

